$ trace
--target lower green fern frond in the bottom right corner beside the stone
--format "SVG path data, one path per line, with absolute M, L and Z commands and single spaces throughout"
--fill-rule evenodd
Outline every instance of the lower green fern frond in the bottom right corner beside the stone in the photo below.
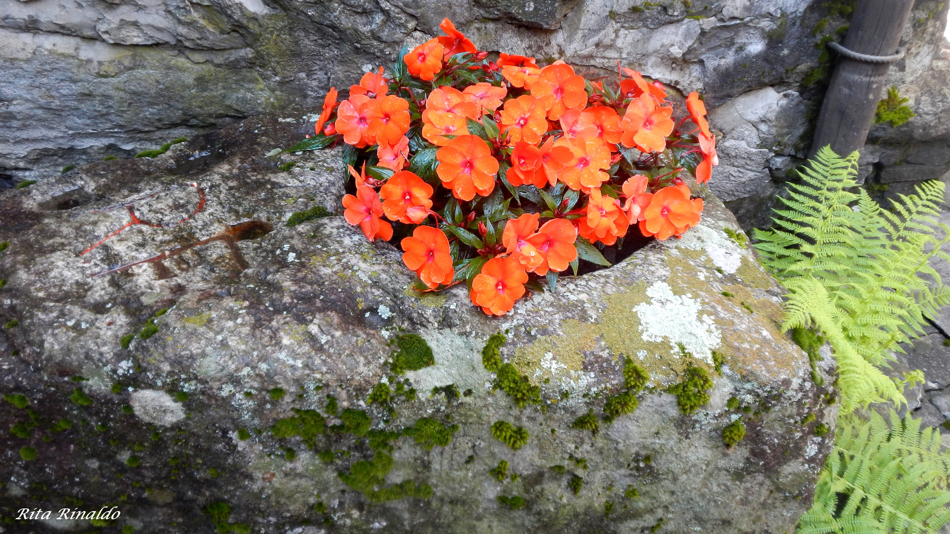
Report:
M 929 534 L 950 522 L 950 453 L 921 420 L 838 419 L 835 447 L 797 534 Z

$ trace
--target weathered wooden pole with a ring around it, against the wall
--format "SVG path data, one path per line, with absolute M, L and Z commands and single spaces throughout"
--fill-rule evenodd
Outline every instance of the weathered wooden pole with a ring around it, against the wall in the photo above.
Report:
M 845 49 L 831 47 L 832 53 L 838 53 L 838 62 L 818 116 L 810 155 L 827 144 L 843 156 L 864 146 L 883 98 L 887 70 L 902 57 L 897 48 L 913 5 L 913 0 L 858 0 L 845 35 Z

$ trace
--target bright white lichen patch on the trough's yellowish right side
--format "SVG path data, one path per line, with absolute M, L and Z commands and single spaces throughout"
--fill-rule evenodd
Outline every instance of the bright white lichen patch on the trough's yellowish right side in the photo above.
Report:
M 645 341 L 670 343 L 670 353 L 680 353 L 682 345 L 693 356 L 712 365 L 712 350 L 717 349 L 722 335 L 709 315 L 700 315 L 699 300 L 689 295 L 675 295 L 666 282 L 655 282 L 646 291 L 650 302 L 637 304 L 634 312 L 640 319 L 640 335 Z

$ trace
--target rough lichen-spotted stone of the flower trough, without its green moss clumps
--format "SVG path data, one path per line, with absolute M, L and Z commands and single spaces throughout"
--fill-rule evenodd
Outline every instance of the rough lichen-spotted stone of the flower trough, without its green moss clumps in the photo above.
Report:
M 0 435 L 0 514 L 81 499 L 120 503 L 119 523 L 136 532 L 204 532 L 212 522 L 202 506 L 224 501 L 232 523 L 256 532 L 638 532 L 659 520 L 669 532 L 792 531 L 831 447 L 833 432 L 818 437 L 814 427 L 833 429 L 837 405 L 826 404 L 831 391 L 815 387 L 805 353 L 778 332 L 781 290 L 726 237 L 724 227 L 738 226 L 719 200 L 706 193 L 703 222 L 684 238 L 561 277 L 557 293 L 535 293 L 509 315 L 489 317 L 471 306 L 464 285 L 441 295 L 409 290 L 398 250 L 368 242 L 342 217 L 282 222 L 314 204 L 336 209 L 344 193 L 333 151 L 264 156 L 308 127 L 251 119 L 154 160 L 92 163 L 0 192 L 0 240 L 10 241 L 0 254 L 8 280 L 0 324 L 19 323 L 0 329 L 0 391 L 26 394 L 35 418 L 4 402 L 0 419 L 37 423 L 30 438 Z M 297 164 L 276 169 L 289 161 Z M 180 220 L 198 202 L 189 182 L 207 195 L 194 219 L 133 226 L 77 256 L 128 219 L 117 208 L 123 202 L 137 200 L 143 219 Z M 240 238 L 239 255 L 211 241 L 163 268 L 143 263 L 92 277 L 222 229 Z M 158 332 L 123 349 L 123 335 L 149 320 Z M 396 401 L 393 415 L 365 399 L 388 374 L 390 339 L 400 331 L 422 335 L 435 365 L 407 373 L 419 399 Z M 520 410 L 491 391 L 481 351 L 500 331 L 504 360 L 541 387 L 540 406 Z M 712 351 L 726 358 L 721 375 Z M 572 429 L 618 391 L 624 356 L 650 372 L 655 390 L 640 395 L 633 414 L 601 423 L 597 436 Z M 690 363 L 709 370 L 714 387 L 707 405 L 683 415 L 675 396 L 660 391 Z M 822 365 L 828 372 L 833 361 Z M 450 383 L 465 394 L 429 395 Z M 67 400 L 76 388 L 91 405 Z M 274 388 L 285 396 L 271 396 Z M 179 408 L 169 410 L 167 394 L 180 391 L 187 400 L 172 400 Z M 432 497 L 371 504 L 345 486 L 337 472 L 372 457 L 365 439 L 318 435 L 310 449 L 272 435 L 292 409 L 327 410 L 327 394 L 340 408 L 367 410 L 374 429 L 420 417 L 459 425 L 445 447 L 393 442 L 388 483 L 428 483 Z M 728 410 L 732 396 L 748 412 Z M 812 410 L 817 420 L 801 425 Z M 722 429 L 740 415 L 746 437 L 726 448 Z M 71 428 L 53 431 L 63 419 Z M 528 443 L 505 448 L 489 432 L 498 420 L 527 429 Z M 237 429 L 251 430 L 250 439 Z M 20 459 L 25 445 L 37 460 Z M 335 451 L 335 462 L 319 461 L 320 450 Z M 489 477 L 500 460 L 518 480 Z M 583 479 L 577 496 L 567 486 L 574 474 Z M 640 497 L 624 497 L 628 487 Z M 527 507 L 504 508 L 499 495 L 523 496 Z M 615 504 L 609 517 L 607 502 Z

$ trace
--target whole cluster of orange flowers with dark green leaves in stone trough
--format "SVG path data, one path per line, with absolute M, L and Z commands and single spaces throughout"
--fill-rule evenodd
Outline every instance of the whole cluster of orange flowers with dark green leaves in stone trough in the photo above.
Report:
M 595 245 L 618 245 L 631 225 L 662 240 L 698 224 L 703 201 L 679 173 L 709 181 L 717 157 L 697 93 L 677 123 L 665 88 L 635 70 L 609 85 L 562 61 L 492 61 L 440 27 L 389 77 L 366 73 L 339 103 L 332 88 L 304 142 L 351 145 L 344 215 L 370 240 L 403 236 L 419 289 L 466 281 L 473 304 L 504 315 L 529 275 L 553 287 L 579 259 L 606 264 Z

